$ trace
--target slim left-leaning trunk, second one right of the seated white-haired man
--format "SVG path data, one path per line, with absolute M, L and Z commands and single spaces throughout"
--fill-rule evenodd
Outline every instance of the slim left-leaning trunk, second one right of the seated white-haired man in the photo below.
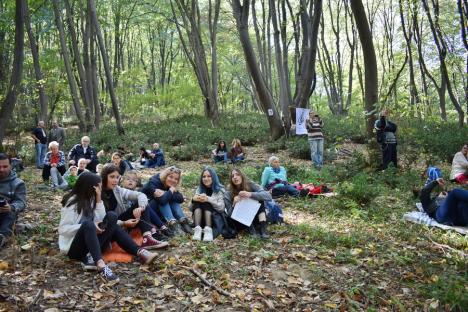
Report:
M 89 5 L 90 14 L 91 14 L 91 20 L 93 22 L 94 30 L 96 32 L 96 36 L 98 39 L 99 50 L 101 51 L 101 58 L 102 58 L 102 62 L 104 65 L 104 71 L 106 73 L 107 88 L 109 89 L 109 94 L 111 97 L 112 112 L 114 113 L 115 123 L 117 126 L 117 132 L 120 135 L 124 135 L 125 130 L 122 124 L 122 120 L 120 119 L 119 102 L 118 102 L 117 95 L 115 94 L 115 90 L 114 90 L 112 73 L 111 73 L 111 69 L 109 66 L 109 59 L 107 57 L 107 51 L 106 51 L 106 47 L 104 44 L 104 38 L 102 37 L 101 27 L 99 26 L 99 20 L 97 18 L 96 5 L 94 4 L 94 0 L 88 0 L 88 5 Z

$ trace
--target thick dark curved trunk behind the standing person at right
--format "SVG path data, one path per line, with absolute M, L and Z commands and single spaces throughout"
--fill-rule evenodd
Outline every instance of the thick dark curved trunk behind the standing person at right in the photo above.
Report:
M 366 132 L 367 139 L 371 140 L 374 137 L 374 122 L 375 114 L 377 113 L 378 104 L 378 77 L 377 77 L 377 60 L 375 57 L 374 43 L 372 41 L 372 33 L 367 22 L 366 11 L 361 0 L 351 0 L 351 10 L 353 11 L 356 28 L 361 41 L 362 53 L 364 56 L 364 76 L 365 76 L 365 113 L 366 113 Z

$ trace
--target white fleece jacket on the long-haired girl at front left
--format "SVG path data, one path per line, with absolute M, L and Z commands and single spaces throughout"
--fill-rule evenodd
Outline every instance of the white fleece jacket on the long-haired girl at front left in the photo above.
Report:
M 76 232 L 81 227 L 80 220 L 83 213 L 76 212 L 76 204 L 62 207 L 60 211 L 60 225 L 59 225 L 59 248 L 60 252 L 68 253 L 70 245 L 75 238 Z M 106 209 L 103 202 L 96 204 L 94 210 L 94 222 L 101 222 L 106 216 Z

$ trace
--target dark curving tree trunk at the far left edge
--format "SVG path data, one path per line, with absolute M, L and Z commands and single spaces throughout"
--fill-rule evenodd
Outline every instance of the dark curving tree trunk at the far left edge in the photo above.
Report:
M 24 8 L 26 0 L 16 0 L 15 7 L 15 50 L 10 84 L 0 109 L 0 146 L 5 137 L 5 130 L 10 123 L 18 97 L 24 61 Z

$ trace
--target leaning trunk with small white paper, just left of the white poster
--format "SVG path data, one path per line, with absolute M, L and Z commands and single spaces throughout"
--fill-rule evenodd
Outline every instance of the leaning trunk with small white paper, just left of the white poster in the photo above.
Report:
M 273 102 L 273 97 L 269 92 L 265 80 L 258 67 L 257 58 L 249 37 L 248 21 L 249 21 L 249 0 L 232 1 L 232 8 L 234 17 L 236 19 L 236 26 L 239 32 L 239 39 L 244 50 L 244 56 L 247 64 L 249 74 L 254 82 L 254 88 L 257 91 L 259 104 L 266 114 L 268 124 L 270 125 L 270 135 L 274 140 L 279 139 L 284 134 L 284 129 L 281 124 L 278 111 Z

